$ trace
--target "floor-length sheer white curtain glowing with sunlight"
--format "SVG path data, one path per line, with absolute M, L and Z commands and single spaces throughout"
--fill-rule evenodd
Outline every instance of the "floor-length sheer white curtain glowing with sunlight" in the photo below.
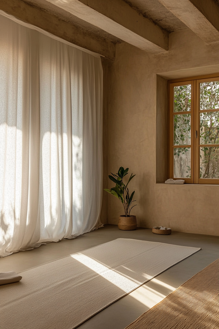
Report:
M 0 15 L 0 256 L 98 228 L 101 201 L 100 57 Z

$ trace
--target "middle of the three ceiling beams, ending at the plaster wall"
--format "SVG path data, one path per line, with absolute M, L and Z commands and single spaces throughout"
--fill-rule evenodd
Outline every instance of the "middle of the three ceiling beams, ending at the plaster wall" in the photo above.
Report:
M 168 50 L 168 32 L 123 0 L 47 0 L 55 6 L 150 53 Z

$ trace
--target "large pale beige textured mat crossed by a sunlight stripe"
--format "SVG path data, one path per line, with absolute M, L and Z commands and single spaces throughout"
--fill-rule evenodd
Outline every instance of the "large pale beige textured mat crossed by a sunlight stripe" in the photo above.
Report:
M 0 286 L 0 328 L 76 328 L 200 249 L 116 239 L 22 271 Z

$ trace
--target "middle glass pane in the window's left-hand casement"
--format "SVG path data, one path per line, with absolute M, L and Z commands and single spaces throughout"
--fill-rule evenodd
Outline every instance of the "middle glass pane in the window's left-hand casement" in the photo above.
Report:
M 174 145 L 191 144 L 191 114 L 174 115 Z

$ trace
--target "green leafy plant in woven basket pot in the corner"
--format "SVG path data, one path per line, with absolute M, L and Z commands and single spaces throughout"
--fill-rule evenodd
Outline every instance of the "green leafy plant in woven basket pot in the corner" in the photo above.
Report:
M 108 193 L 117 197 L 123 204 L 125 215 L 121 215 L 119 218 L 118 227 L 120 230 L 135 230 L 137 227 L 136 216 L 130 215 L 130 211 L 136 206 L 132 206 L 132 203 L 136 201 L 132 200 L 135 191 L 129 196 L 128 190 L 128 184 L 135 175 L 131 174 L 127 184 L 123 183 L 123 178 L 128 174 L 128 169 L 129 168 L 124 169 L 123 167 L 120 167 L 117 174 L 111 172 L 112 176 L 109 175 L 108 177 L 116 184 L 116 186 L 110 190 L 104 189 Z

